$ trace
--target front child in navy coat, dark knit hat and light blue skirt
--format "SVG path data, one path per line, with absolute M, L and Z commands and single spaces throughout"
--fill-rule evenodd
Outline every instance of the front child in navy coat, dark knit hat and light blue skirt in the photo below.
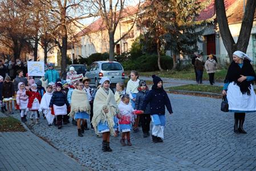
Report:
M 152 78 L 154 84 L 151 91 L 145 96 L 141 110 L 145 112 L 148 103 L 150 104 L 153 122 L 152 140 L 154 143 L 159 143 L 164 139 L 165 107 L 170 114 L 172 114 L 173 111 L 169 97 L 162 87 L 162 79 L 156 75 L 152 75 Z

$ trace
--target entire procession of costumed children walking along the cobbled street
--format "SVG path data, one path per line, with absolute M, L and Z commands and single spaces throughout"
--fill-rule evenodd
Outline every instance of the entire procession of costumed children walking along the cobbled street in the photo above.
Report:
M 30 113 L 31 121 L 38 124 L 39 112 L 42 112 L 49 126 L 55 124 L 60 129 L 72 117 L 72 123 L 77 125 L 80 137 L 88 129 L 87 120 L 90 120 L 91 128 L 96 134 L 102 134 L 103 152 L 112 151 L 109 146 L 110 135 L 116 137 L 119 132 L 121 145 L 131 146 L 130 132 L 138 131 L 139 120 L 143 137 L 150 136 L 152 120 L 152 140 L 159 143 L 164 139 L 165 107 L 169 113 L 172 113 L 172 107 L 162 88 L 162 80 L 155 75 L 152 78 L 154 84 L 149 91 L 147 84 L 139 80 L 138 72 L 131 71 L 126 90 L 124 83 L 117 83 L 115 94 L 110 89 L 111 80 L 106 76 L 101 78 L 96 91 L 89 87 L 90 79 L 86 77 L 82 82 L 76 81 L 72 85 L 60 80 L 49 83 L 46 90 L 42 88 L 42 82 L 35 84 L 30 80 L 29 86 L 18 83 L 17 105 L 23 122 L 27 121 L 26 116 Z M 0 88 L 1 80 L 0 77 Z M 8 84 L 9 80 L 6 79 L 5 82 Z M 14 93 L 3 95 L 4 98 L 9 96 L 14 96 Z

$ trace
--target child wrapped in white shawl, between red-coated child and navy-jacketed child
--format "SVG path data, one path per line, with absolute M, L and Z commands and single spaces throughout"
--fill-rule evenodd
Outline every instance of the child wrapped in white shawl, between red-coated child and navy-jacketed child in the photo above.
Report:
M 54 115 L 51 114 L 50 110 L 50 101 L 52 96 L 52 86 L 48 85 L 46 87 L 46 93 L 44 93 L 41 103 L 40 103 L 40 111 L 43 111 L 44 116 L 46 117 L 46 120 L 48 122 L 48 126 L 50 127 L 54 121 Z

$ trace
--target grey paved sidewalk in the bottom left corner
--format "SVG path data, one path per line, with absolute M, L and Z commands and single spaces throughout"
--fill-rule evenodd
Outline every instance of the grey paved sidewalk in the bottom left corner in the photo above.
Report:
M 0 112 L 0 117 L 5 115 Z M 26 132 L 0 132 L 0 170 L 86 169 L 28 129 Z

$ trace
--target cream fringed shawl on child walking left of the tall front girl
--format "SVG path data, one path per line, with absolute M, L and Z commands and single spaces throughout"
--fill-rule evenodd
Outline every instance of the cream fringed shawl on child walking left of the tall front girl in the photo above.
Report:
M 74 117 L 77 112 L 87 112 L 90 114 L 90 110 L 91 106 L 87 98 L 87 92 L 74 89 L 71 96 L 71 111 L 68 116 Z

